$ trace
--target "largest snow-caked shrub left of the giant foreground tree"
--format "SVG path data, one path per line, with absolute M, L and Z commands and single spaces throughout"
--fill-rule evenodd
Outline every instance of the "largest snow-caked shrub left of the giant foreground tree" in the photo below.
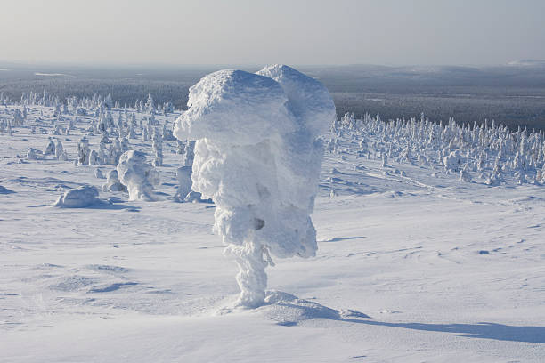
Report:
M 117 167 L 119 180 L 129 192 L 129 200 L 154 200 L 153 188 L 159 184 L 159 173 L 146 163 L 142 151 L 126 151 Z

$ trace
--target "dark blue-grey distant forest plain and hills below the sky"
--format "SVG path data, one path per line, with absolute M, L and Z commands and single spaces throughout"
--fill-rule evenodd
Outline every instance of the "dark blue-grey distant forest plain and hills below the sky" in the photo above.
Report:
M 134 105 L 148 93 L 157 102 L 187 103 L 189 87 L 209 72 L 233 66 L 92 69 L 0 64 L 0 92 L 13 100 L 23 92 L 92 96 L 111 93 L 122 105 Z M 239 66 L 256 71 L 261 67 Z M 338 117 L 354 112 L 382 119 L 419 117 L 459 123 L 484 119 L 517 128 L 545 129 L 545 67 L 383 67 L 300 66 L 329 88 Z

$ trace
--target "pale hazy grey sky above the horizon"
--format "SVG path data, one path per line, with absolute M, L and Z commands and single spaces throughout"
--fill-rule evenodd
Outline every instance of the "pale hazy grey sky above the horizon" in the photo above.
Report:
M 545 59 L 545 0 L 2 0 L 0 61 L 502 64 Z

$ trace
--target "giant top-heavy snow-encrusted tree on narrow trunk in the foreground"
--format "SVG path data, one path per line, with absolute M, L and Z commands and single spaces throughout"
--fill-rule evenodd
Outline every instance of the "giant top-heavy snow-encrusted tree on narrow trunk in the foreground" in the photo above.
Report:
M 258 306 L 271 254 L 316 253 L 310 214 L 323 154 L 318 137 L 335 106 L 321 83 L 281 65 L 207 75 L 190 88 L 188 106 L 175 136 L 197 140 L 193 190 L 217 205 L 214 229 L 240 269 L 239 303 Z

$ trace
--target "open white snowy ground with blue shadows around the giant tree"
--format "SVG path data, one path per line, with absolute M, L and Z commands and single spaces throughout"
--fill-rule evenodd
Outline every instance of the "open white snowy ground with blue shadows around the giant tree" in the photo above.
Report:
M 47 135 L 16 131 L 0 135 L 1 362 L 545 360 L 545 187 L 385 173 L 346 144 L 325 156 L 318 255 L 275 261 L 271 303 L 232 311 L 214 206 L 172 201 L 175 141 L 159 201 L 63 209 L 63 190 L 102 185 L 97 166 L 18 163 Z M 71 158 L 81 134 L 60 136 Z

